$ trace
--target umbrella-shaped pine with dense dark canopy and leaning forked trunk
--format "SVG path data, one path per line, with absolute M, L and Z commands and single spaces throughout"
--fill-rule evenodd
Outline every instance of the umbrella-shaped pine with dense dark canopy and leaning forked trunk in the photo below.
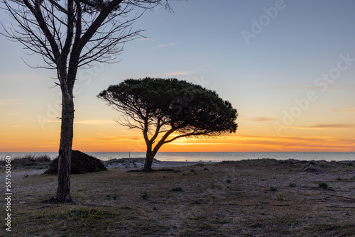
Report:
M 235 133 L 238 127 L 237 111 L 229 101 L 212 90 L 175 78 L 126 79 L 97 97 L 123 114 L 118 121 L 121 125 L 143 131 L 147 145 L 143 170 L 147 171 L 165 143 L 182 137 Z

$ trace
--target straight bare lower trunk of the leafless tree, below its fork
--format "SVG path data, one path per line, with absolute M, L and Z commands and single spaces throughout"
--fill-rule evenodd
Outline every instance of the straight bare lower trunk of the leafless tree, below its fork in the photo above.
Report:
M 62 125 L 58 156 L 58 189 L 55 202 L 71 202 L 70 171 L 74 123 L 74 101 L 72 93 L 62 89 Z

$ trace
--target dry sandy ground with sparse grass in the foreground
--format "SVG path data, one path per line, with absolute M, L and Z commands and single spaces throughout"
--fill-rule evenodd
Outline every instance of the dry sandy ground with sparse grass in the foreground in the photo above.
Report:
M 72 175 L 75 204 L 42 203 L 55 194 L 56 177 L 17 169 L 11 235 L 0 235 L 355 236 L 355 162 L 302 171 L 308 165 L 244 160 Z

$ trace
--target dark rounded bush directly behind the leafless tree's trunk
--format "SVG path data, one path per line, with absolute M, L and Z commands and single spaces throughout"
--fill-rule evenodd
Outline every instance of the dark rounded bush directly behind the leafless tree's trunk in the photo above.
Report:
M 99 172 L 107 170 L 101 160 L 82 153 L 79 150 L 72 150 L 72 174 L 85 174 L 89 172 Z M 55 158 L 48 170 L 45 171 L 47 175 L 57 175 L 58 171 L 58 158 Z

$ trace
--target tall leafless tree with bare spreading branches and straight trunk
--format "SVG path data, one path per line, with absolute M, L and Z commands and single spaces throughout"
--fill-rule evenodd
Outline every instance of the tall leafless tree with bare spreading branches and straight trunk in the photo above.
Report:
M 4 28 L 3 35 L 22 43 L 43 58 L 40 68 L 57 71 L 62 92 L 62 115 L 55 202 L 71 202 L 73 87 L 79 67 L 96 62 L 116 62 L 123 43 L 140 36 L 132 24 L 144 10 L 170 9 L 170 0 L 2 0 L 18 27 Z M 139 11 L 141 10 L 141 11 Z M 138 13 L 141 12 L 141 13 Z

